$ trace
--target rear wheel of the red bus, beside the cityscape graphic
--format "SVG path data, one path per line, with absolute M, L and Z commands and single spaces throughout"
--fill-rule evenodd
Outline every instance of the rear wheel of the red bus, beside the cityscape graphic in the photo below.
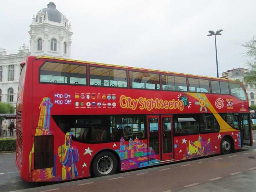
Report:
M 96 177 L 112 175 L 117 171 L 117 159 L 113 153 L 102 152 L 92 163 L 92 172 Z

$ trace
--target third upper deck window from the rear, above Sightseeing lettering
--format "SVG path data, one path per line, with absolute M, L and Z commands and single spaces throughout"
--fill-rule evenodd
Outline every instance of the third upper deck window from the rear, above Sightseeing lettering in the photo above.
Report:
M 159 74 L 130 71 L 130 88 L 160 89 Z

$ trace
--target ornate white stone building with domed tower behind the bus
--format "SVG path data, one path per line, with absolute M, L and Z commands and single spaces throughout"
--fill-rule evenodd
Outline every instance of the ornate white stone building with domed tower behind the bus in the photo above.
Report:
M 30 49 L 23 44 L 17 54 L 0 48 L 0 102 L 16 108 L 20 63 L 29 55 L 70 58 L 71 24 L 53 2 L 33 16 L 30 25 Z M 25 40 L 25 39 L 24 39 Z M 26 41 L 26 40 L 25 40 Z

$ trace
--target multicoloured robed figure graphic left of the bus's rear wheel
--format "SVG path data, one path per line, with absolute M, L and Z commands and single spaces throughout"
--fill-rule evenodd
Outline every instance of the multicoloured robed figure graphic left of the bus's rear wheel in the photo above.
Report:
M 79 153 L 76 146 L 72 146 L 72 133 L 65 136 L 65 143 L 58 147 L 59 161 L 62 167 L 62 180 L 71 179 L 78 176 L 75 163 L 79 161 Z

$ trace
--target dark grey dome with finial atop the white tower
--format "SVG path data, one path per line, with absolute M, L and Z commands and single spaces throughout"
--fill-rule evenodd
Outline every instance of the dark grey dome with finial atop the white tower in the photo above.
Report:
M 56 5 L 52 1 L 48 3 L 47 8 L 43 8 L 42 10 L 40 10 L 37 13 L 37 15 L 39 13 L 41 13 L 41 12 L 43 12 L 45 14 L 47 12 L 48 20 L 49 21 L 54 21 L 54 22 L 58 22 L 58 23 L 61 22 L 61 18 L 63 16 L 63 14 L 56 9 Z M 38 20 L 38 16 L 37 15 L 36 15 L 36 22 Z

